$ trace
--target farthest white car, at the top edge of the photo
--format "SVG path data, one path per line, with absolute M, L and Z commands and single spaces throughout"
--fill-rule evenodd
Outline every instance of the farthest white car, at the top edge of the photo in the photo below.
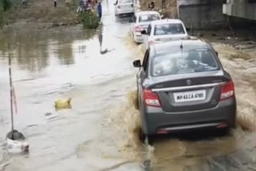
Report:
M 114 3 L 114 14 L 134 14 L 135 7 L 133 0 L 117 0 Z

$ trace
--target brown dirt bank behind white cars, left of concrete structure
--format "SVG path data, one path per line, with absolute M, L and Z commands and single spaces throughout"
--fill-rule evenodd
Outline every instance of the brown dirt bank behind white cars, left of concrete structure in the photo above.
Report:
M 151 2 L 149 0 L 141 0 L 142 10 L 148 10 L 148 4 Z M 162 0 L 154 1 L 154 10 L 158 10 L 160 14 L 163 14 L 165 18 L 178 18 L 177 1 L 176 0 L 166 0 L 166 7 L 162 8 Z

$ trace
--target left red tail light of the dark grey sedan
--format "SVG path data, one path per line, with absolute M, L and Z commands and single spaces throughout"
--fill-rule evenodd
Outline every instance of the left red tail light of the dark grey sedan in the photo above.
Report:
M 151 89 L 144 89 L 143 97 L 146 105 L 161 107 L 158 95 L 154 93 Z

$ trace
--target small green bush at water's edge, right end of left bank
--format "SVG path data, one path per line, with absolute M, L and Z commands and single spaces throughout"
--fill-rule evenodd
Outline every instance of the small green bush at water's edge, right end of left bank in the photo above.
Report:
M 82 25 L 85 29 L 96 29 L 98 27 L 99 18 L 94 12 L 85 12 L 81 14 Z

